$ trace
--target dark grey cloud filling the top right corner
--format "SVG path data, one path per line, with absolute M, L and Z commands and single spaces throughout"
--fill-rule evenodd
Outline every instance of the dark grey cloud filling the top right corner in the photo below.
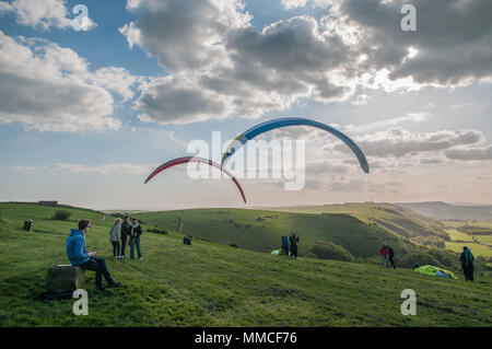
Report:
M 358 46 L 367 56 L 366 68 L 389 69 L 391 80 L 411 77 L 421 84 L 459 85 L 492 77 L 489 0 L 414 0 L 417 32 L 400 30 L 407 1 L 331 3 L 331 15 L 343 19 L 338 24 L 352 25 L 363 39 Z

